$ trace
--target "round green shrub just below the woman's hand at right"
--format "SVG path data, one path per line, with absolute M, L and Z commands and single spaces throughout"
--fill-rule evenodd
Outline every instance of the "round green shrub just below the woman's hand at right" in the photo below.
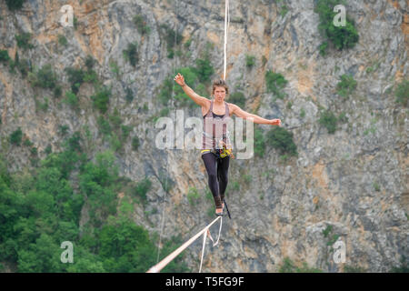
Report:
M 281 154 L 297 156 L 297 146 L 294 144 L 293 133 L 283 127 L 275 126 L 266 135 L 267 144 L 279 150 Z

